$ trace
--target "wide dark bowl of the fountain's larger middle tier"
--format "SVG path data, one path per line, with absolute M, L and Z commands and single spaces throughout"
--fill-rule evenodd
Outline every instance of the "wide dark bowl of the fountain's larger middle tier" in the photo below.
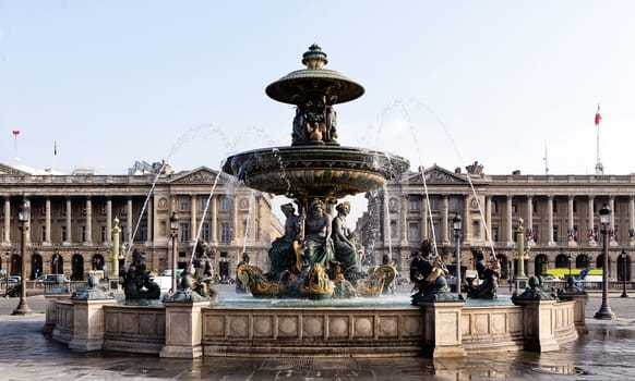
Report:
M 223 171 L 251 188 L 290 198 L 342 198 L 372 190 L 406 172 L 408 160 L 355 147 L 262 148 L 227 158 Z

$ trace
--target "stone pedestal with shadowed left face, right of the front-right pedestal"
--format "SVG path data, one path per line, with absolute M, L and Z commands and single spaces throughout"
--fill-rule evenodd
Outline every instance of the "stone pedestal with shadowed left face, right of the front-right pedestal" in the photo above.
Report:
M 548 352 L 560 348 L 560 344 L 555 340 L 555 322 L 552 315 L 556 303 L 556 299 L 514 302 L 514 304 L 524 308 L 525 349 Z

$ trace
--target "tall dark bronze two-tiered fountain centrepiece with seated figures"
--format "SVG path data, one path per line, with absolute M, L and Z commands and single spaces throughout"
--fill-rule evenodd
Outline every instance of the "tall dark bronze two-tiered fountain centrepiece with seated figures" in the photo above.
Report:
M 326 53 L 312 45 L 302 57 L 305 69 L 266 88 L 271 98 L 296 106 L 291 145 L 241 152 L 223 167 L 247 186 L 284 195 L 298 206 L 299 216 L 287 214 L 286 244 L 276 241 L 269 250 L 272 262 L 287 268 L 273 266 L 267 273 L 251 265 L 238 268 L 237 276 L 249 278 L 256 297 L 376 295 L 395 276 L 390 265 L 362 274 L 351 258 L 355 248 L 347 247 L 350 242 L 344 237 L 345 244 L 338 245 L 335 234 L 335 244 L 331 239 L 330 231 L 337 230 L 331 226 L 331 214 L 339 198 L 379 188 L 406 172 L 409 163 L 386 152 L 339 145 L 334 106 L 355 100 L 364 90 L 344 74 L 324 69 L 327 62 Z

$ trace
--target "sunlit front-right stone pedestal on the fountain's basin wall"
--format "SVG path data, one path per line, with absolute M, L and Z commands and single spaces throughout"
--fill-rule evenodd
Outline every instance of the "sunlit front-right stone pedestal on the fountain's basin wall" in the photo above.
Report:
M 463 319 L 465 302 L 422 302 L 426 352 L 432 357 L 463 357 Z

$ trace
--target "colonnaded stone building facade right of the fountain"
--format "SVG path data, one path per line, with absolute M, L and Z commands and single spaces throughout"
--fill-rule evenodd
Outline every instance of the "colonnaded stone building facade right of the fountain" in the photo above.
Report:
M 462 266 L 468 269 L 474 269 L 470 249 L 480 248 L 486 255 L 494 253 L 502 278 L 511 279 L 520 219 L 526 274 L 570 265 L 601 268 L 598 212 L 607 205 L 612 210 L 607 226 L 609 278 L 631 280 L 631 258 L 621 254 L 635 250 L 635 174 L 487 175 L 478 163 L 467 170 L 434 165 L 367 194 L 369 210 L 357 226 L 367 260 L 379 262 L 387 256 L 407 276 L 411 253 L 423 238 L 434 238 L 446 263 L 455 263 L 452 220 L 458 212 Z

